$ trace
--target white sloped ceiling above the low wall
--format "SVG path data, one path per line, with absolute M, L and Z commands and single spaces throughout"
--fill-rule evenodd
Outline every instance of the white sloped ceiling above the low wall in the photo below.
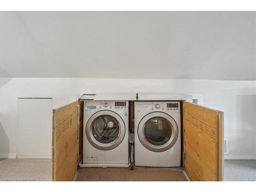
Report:
M 1 12 L 2 77 L 256 80 L 255 12 Z

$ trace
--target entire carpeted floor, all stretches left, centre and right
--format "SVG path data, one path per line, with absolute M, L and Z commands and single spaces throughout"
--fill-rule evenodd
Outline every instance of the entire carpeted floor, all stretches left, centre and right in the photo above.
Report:
M 51 181 L 51 159 L 0 159 L 0 181 Z M 76 181 L 187 181 L 180 168 L 78 168 Z M 256 160 L 224 160 L 224 181 L 256 181 Z

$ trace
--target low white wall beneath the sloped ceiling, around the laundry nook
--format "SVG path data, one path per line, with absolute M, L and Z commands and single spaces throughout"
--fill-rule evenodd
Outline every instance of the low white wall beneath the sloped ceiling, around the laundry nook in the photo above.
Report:
M 225 113 L 229 154 L 256 155 L 255 81 L 2 78 L 0 154 L 17 152 L 17 98 L 52 97 L 57 107 L 94 92 L 172 92 L 203 94 L 204 105 Z M 253 157 L 254 157 L 253 156 Z

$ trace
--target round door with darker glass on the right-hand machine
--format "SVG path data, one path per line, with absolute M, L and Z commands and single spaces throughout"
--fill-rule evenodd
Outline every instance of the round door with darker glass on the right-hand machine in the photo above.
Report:
M 175 144 L 179 130 L 170 115 L 152 112 L 141 119 L 137 133 L 140 142 L 148 150 L 164 152 Z

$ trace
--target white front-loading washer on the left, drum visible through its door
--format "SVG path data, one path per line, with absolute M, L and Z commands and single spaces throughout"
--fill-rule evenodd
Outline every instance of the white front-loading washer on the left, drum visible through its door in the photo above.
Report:
M 129 166 L 129 102 L 84 101 L 81 167 Z

